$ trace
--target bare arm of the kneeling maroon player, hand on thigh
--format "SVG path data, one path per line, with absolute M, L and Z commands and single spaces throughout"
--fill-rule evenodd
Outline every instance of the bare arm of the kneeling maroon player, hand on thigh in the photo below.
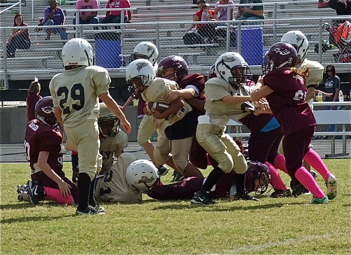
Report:
M 69 190 L 72 188 L 68 183 L 66 183 L 64 180 L 60 178 L 49 166 L 47 163 L 47 159 L 49 157 L 49 152 L 48 151 L 40 151 L 39 152 L 39 157 L 38 157 L 38 167 L 49 177 L 52 179 L 57 185 L 59 186 L 61 196 L 68 198 L 71 196 L 71 191 Z

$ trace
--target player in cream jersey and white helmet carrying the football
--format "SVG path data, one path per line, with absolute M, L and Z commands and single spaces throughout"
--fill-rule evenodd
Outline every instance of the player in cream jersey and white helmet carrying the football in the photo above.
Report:
M 133 90 L 139 90 L 148 103 L 162 102 L 169 106 L 162 113 L 151 105 L 145 107 L 145 114 L 153 115 L 156 119 L 167 119 L 170 124 L 158 138 L 154 150 L 155 161 L 159 165 L 166 163 L 183 176 L 201 178 L 202 173 L 188 160 L 192 137 L 196 132 L 196 115 L 183 98 L 177 97 L 168 103 L 166 95 L 171 90 L 178 90 L 179 86 L 174 81 L 155 76 L 152 64 L 146 59 L 134 60 L 127 66 L 126 80 Z

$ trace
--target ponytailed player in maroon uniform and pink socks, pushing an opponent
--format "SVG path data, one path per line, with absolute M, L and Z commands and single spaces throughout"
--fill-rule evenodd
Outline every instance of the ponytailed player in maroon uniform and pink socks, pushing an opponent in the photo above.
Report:
M 298 180 L 313 194 L 311 204 L 326 204 L 327 196 L 303 166 L 303 157 L 310 150 L 316 120 L 305 102 L 307 89 L 304 78 L 309 68 L 297 70 L 293 67 L 296 62 L 297 52 L 291 44 L 273 44 L 266 54 L 266 62 L 262 64 L 265 75 L 259 77 L 251 100 L 266 97 L 273 115 L 280 123 L 285 136 L 283 149 L 286 169 L 292 181 Z M 291 186 L 294 190 L 294 185 Z

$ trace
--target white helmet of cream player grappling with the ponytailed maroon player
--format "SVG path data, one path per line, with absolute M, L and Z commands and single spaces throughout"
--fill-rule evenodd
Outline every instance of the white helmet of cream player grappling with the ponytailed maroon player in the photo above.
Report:
M 240 84 L 245 85 L 246 81 L 252 78 L 249 66 L 238 52 L 223 53 L 217 58 L 214 65 L 217 77 L 224 79 L 236 90 Z M 240 73 L 237 73 L 238 67 Z

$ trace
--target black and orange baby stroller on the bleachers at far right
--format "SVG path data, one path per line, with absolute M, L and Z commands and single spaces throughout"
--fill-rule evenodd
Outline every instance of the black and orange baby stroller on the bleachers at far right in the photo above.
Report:
M 351 42 L 346 39 L 349 36 L 351 23 L 345 21 L 339 23 L 325 23 L 323 28 L 329 32 L 329 40 L 322 41 L 322 53 L 331 49 L 339 49 L 339 52 L 333 54 L 335 63 L 350 63 L 351 62 Z M 318 53 L 318 43 L 314 45 L 314 52 Z

